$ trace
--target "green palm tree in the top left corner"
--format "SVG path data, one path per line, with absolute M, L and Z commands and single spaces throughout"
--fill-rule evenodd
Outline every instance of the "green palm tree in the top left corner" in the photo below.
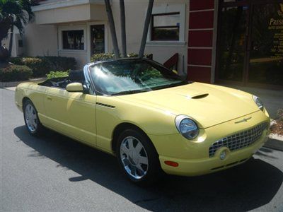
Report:
M 19 33 L 23 34 L 25 24 L 33 18 L 31 6 L 36 5 L 35 3 L 35 0 L 0 0 L 0 42 L 8 37 L 10 30 L 10 56 L 13 46 L 13 28 L 18 28 Z

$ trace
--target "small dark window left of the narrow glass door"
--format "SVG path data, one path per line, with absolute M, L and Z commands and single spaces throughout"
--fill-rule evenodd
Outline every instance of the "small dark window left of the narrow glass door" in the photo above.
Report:
M 84 49 L 83 30 L 62 31 L 63 49 Z

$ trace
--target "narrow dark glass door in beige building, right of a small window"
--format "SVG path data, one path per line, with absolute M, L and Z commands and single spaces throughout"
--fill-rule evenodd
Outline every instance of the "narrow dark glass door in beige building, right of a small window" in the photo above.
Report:
M 104 25 L 91 25 L 91 55 L 105 53 Z

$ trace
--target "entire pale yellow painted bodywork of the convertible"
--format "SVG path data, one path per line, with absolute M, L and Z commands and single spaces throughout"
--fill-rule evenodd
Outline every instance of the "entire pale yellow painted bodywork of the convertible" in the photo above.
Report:
M 208 95 L 197 98 L 202 94 Z M 163 170 L 174 175 L 202 175 L 214 172 L 215 167 L 222 170 L 236 165 L 226 166 L 230 163 L 243 163 L 266 141 L 267 130 L 252 146 L 229 153 L 226 160 L 217 155 L 209 158 L 209 146 L 226 136 L 270 122 L 267 111 L 259 110 L 249 93 L 204 83 L 121 96 L 69 93 L 22 83 L 15 95 L 20 110 L 24 97 L 33 101 L 43 125 L 108 153 L 114 154 L 111 141 L 118 124 L 138 126 L 154 144 Z M 175 117 L 179 114 L 190 116 L 200 127 L 196 139 L 190 141 L 178 133 Z M 251 119 L 247 122 L 235 124 L 248 117 Z M 179 166 L 165 165 L 165 160 L 173 160 Z

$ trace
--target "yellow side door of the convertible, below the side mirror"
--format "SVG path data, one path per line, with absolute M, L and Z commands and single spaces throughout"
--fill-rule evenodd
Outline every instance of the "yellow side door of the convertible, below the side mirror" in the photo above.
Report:
M 96 95 L 50 87 L 44 105 L 47 127 L 96 146 Z

